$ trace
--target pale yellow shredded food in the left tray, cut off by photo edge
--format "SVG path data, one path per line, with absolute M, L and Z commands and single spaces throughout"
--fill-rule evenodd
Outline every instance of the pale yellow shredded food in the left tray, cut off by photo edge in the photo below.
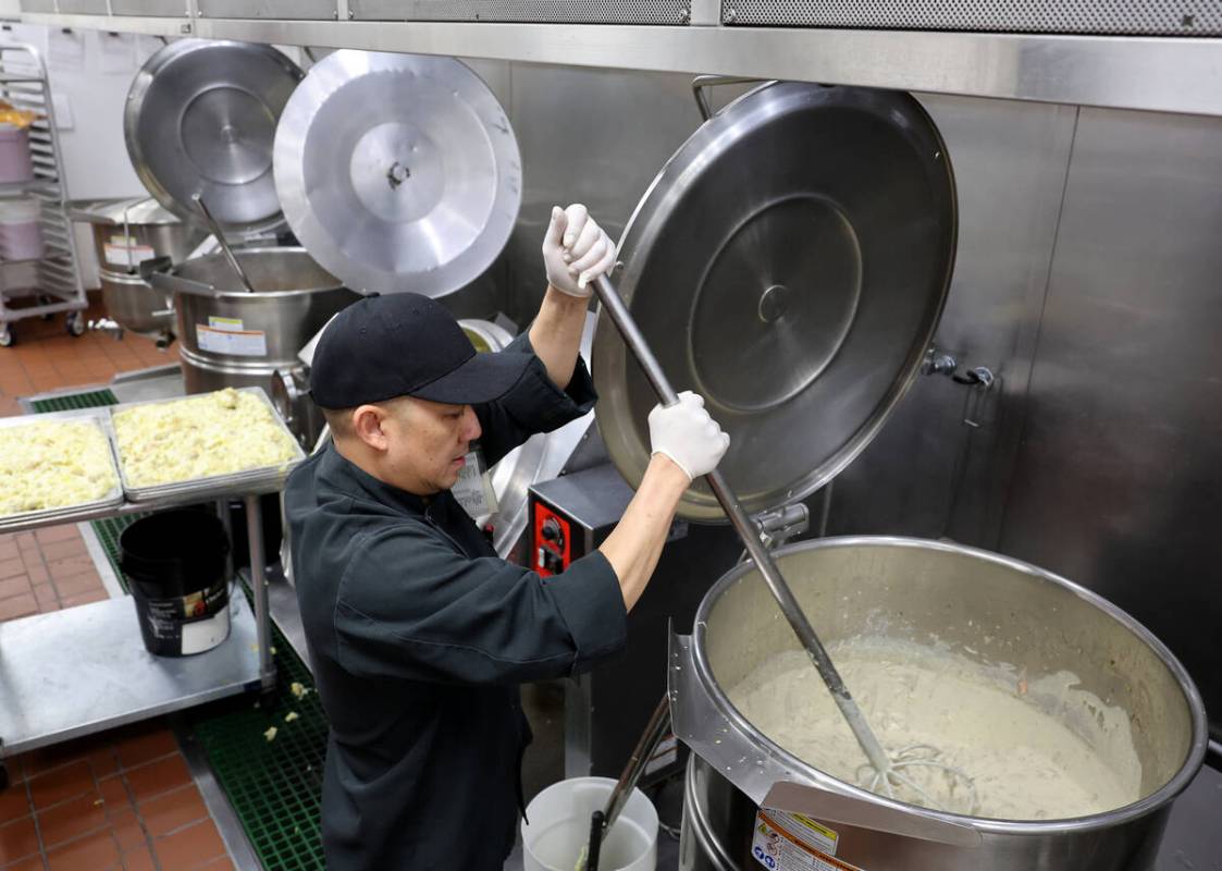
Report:
M 95 423 L 0 429 L 0 515 L 97 502 L 116 484 L 110 445 Z

